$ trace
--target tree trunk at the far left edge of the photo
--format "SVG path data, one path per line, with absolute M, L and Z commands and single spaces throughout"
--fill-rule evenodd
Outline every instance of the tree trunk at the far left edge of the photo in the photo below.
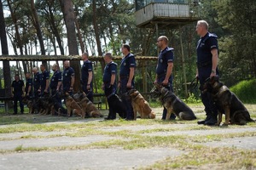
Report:
M 1 47 L 2 47 L 2 54 L 8 55 L 8 43 L 7 43 L 7 36 L 5 31 L 5 22 L 3 16 L 3 3 L 0 0 L 0 39 L 1 39 Z M 4 81 L 4 88 L 5 88 L 5 96 L 11 97 L 11 76 L 10 76 L 10 66 L 9 61 L 3 61 L 3 81 Z

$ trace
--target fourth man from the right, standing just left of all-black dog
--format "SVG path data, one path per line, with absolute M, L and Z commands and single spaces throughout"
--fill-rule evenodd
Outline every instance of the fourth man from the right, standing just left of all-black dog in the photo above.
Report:
M 110 100 L 110 97 L 116 92 L 116 74 L 117 74 L 117 64 L 113 62 L 112 54 L 107 53 L 104 55 L 104 60 L 107 65 L 105 65 L 103 73 L 103 90 L 108 99 L 108 117 L 106 120 L 113 120 L 116 118 L 116 112 L 113 108 L 113 101 Z

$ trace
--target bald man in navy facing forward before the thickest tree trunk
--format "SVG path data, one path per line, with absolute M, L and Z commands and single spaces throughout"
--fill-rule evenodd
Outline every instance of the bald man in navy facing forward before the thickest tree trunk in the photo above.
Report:
M 62 73 L 62 89 L 63 93 L 73 95 L 74 71 L 70 67 L 69 61 L 64 61 L 64 71 Z

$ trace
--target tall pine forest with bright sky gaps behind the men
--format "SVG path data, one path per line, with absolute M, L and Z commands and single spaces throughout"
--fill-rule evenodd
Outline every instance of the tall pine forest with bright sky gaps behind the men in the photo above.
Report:
M 201 20 L 207 20 L 209 31 L 218 35 L 220 79 L 228 87 L 256 77 L 256 1 L 201 0 Z M 169 38 L 174 48 L 174 92 L 184 93 L 180 36 L 183 39 L 184 65 L 187 82 L 195 77 L 195 23 L 179 31 L 170 27 L 159 35 Z M 129 43 L 131 53 L 138 56 L 157 56 L 154 29 L 137 28 L 135 4 L 131 0 L 0 0 L 0 36 L 2 55 L 79 55 L 90 56 L 111 52 L 121 55 L 120 47 Z M 2 56 L 0 56 L 2 57 Z M 62 65 L 62 61 L 56 61 Z M 119 63 L 119 61 L 116 61 Z M 49 62 L 43 61 L 49 65 Z M 79 89 L 80 61 L 72 61 Z M 148 59 L 148 90 L 152 88 L 156 61 Z M 22 61 L 10 65 L 3 61 L 0 71 L 1 88 L 10 96 L 10 83 L 15 73 L 24 77 L 38 62 Z M 101 93 L 104 62 L 95 63 L 95 90 Z M 62 66 L 61 66 L 62 67 Z M 140 63 L 137 63 L 136 88 L 143 89 Z M 23 78 L 24 79 L 24 78 Z M 4 82 L 4 83 L 3 83 Z M 255 83 L 255 81 L 253 82 Z M 252 94 L 251 94 L 252 95 Z

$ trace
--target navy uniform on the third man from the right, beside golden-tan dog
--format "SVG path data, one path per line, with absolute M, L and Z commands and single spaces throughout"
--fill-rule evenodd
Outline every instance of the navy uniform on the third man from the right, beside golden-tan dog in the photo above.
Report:
M 133 54 L 127 54 L 125 58 L 122 59 L 121 65 L 120 65 L 120 72 L 119 72 L 119 80 L 120 80 L 120 94 L 121 94 L 121 99 L 123 100 L 126 109 L 127 109 L 127 119 L 133 119 L 134 114 L 133 114 L 133 109 L 131 105 L 131 99 L 127 99 L 127 97 L 124 95 L 128 92 L 126 88 L 127 82 L 130 77 L 130 68 L 135 68 L 136 67 L 136 61 L 135 57 Z M 131 81 L 131 88 L 134 88 L 134 77 L 132 78 Z

